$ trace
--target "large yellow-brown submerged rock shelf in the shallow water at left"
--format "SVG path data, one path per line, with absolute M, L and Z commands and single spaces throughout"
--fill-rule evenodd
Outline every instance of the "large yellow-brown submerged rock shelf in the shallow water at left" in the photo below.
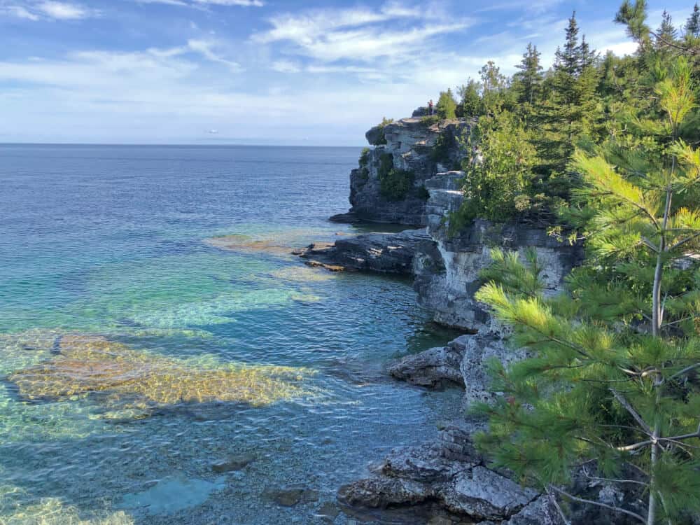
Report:
M 108 394 L 111 406 L 145 408 L 181 402 L 243 402 L 252 406 L 300 398 L 313 372 L 272 365 L 180 359 L 134 350 L 101 336 L 64 335 L 48 360 L 9 375 L 27 400 L 69 400 Z

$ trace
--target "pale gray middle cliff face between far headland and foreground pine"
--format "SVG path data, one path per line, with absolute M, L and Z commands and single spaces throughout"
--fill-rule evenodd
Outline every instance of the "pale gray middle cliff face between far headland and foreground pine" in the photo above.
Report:
M 422 243 L 414 257 L 415 288 L 419 302 L 433 311 L 435 321 L 455 328 L 479 331 L 490 328 L 490 316 L 474 300 L 482 281 L 479 272 L 489 265 L 490 249 L 500 247 L 523 254 L 535 248 L 545 267 L 543 278 L 550 294 L 561 290 L 564 277 L 580 263 L 580 246 L 570 246 L 527 225 L 494 225 L 477 220 L 458 235 L 448 235 L 449 213 L 461 205 L 458 181 L 463 172 L 437 174 L 426 181 L 428 235 L 434 244 Z

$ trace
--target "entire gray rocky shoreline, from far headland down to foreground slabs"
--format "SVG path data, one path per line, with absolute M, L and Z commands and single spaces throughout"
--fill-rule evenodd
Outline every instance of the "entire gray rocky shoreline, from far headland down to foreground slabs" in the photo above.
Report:
M 421 118 L 408 118 L 383 129 L 372 128 L 367 140 L 376 147 L 363 154 L 365 165 L 360 160 L 360 168 L 351 172 L 352 208 L 347 214 L 331 218 L 337 222 L 373 221 L 424 228 L 358 235 L 296 252 L 309 265 L 335 271 L 412 276 L 419 303 L 433 313 L 434 320 L 461 329 L 465 335 L 446 346 L 395 360 L 387 365 L 386 372 L 423 388 L 463 388 L 465 413 L 473 403 L 489 402 L 497 395 L 489 390 L 488 360 L 497 359 L 507 365 L 526 356 L 525 349 L 507 347 L 507 334 L 474 298 L 482 284 L 479 272 L 491 261 L 491 248 L 521 255 L 528 248 L 534 249 L 544 267 L 542 276 L 549 294 L 561 291 L 563 279 L 583 257 L 581 246 L 563 243 L 532 225 L 502 226 L 477 220 L 458 235 L 449 235 L 449 216 L 463 199 L 460 181 L 464 173 L 449 171 L 444 163 L 460 158 L 455 138 L 468 125 L 465 120 L 428 124 Z M 440 148 L 440 155 L 435 154 L 436 148 Z M 400 202 L 386 200 L 379 180 L 381 159 L 386 155 L 391 155 L 395 169 L 411 170 L 414 189 L 422 188 L 426 199 L 418 200 L 415 192 L 409 191 Z M 438 157 L 444 163 L 437 162 Z M 353 509 L 406 508 L 416 515 L 427 505 L 427 520 L 433 525 L 566 523 L 551 495 L 526 489 L 511 479 L 509 472 L 489 468 L 472 443 L 472 434 L 484 430 L 485 425 L 465 416 L 444 426 L 437 442 L 394 449 L 381 463 L 370 467 L 370 477 L 339 489 L 339 502 Z M 633 499 L 604 482 L 588 479 L 585 472 L 582 469 L 575 473 L 577 481 L 570 488 L 573 493 L 612 507 Z M 574 504 L 568 514 L 571 524 L 626 523 L 621 514 L 602 507 Z

